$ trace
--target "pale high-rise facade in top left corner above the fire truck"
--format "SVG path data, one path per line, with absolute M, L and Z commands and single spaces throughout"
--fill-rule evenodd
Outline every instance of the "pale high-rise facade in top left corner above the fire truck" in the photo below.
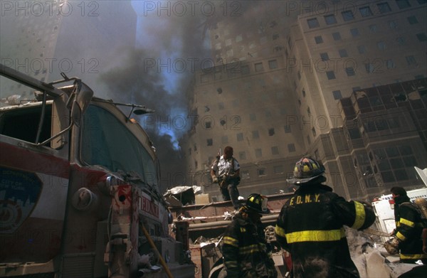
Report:
M 62 19 L 70 10 L 63 1 L 1 1 L 0 63 L 48 80 L 58 61 L 53 60 Z M 55 69 L 56 69 L 55 68 Z M 33 97 L 23 86 L 1 78 L 1 98 Z

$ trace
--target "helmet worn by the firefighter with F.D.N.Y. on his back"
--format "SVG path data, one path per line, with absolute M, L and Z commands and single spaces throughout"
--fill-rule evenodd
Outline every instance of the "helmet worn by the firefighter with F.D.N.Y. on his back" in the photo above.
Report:
M 322 176 L 323 173 L 325 173 L 325 167 L 322 162 L 304 156 L 295 164 L 293 178 L 288 178 L 286 181 L 293 184 L 307 183 Z

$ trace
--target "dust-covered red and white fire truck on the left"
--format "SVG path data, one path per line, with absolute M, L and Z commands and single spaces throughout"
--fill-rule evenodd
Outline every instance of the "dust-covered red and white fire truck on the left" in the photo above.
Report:
M 0 73 L 36 90 L 0 107 L 0 277 L 194 277 L 169 236 L 154 146 L 130 119 L 147 109 L 127 116 L 65 74 Z

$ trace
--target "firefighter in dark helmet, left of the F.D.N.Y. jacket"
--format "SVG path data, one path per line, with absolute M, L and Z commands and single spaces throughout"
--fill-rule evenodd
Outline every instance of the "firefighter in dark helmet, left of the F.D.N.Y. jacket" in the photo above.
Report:
M 251 194 L 226 228 L 222 252 L 227 278 L 278 276 L 260 221 L 262 214 L 267 213 L 267 197 Z

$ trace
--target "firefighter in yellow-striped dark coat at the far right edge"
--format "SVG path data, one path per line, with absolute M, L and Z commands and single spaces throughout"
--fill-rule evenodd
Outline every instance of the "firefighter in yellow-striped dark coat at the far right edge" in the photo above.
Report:
M 425 223 L 421 213 L 414 203 L 411 203 L 404 188 L 396 186 L 391 188 L 391 196 L 394 199 L 394 220 L 396 229 L 393 238 L 384 243 L 384 247 L 391 254 L 397 254 L 400 250 L 400 262 L 415 264 L 421 260 L 427 264 L 427 254 L 423 252 L 423 228 Z

